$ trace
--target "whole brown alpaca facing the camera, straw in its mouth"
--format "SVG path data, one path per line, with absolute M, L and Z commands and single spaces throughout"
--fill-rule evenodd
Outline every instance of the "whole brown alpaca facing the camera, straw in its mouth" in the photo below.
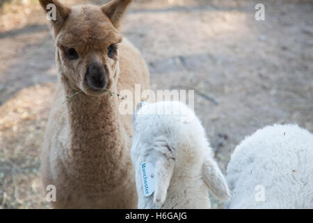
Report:
M 40 0 L 45 10 L 49 3 L 56 6 L 51 28 L 58 84 L 41 164 L 44 187 L 56 186 L 52 208 L 137 207 L 131 115 L 120 114 L 121 99 L 103 91 L 149 87 L 141 54 L 118 31 L 130 2 L 68 8 Z

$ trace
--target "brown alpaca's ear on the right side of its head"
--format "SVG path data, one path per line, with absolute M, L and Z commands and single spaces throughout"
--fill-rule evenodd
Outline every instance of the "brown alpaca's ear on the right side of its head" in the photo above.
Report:
M 131 0 L 112 0 L 101 6 L 101 9 L 109 17 L 113 25 L 118 28 L 129 3 L 131 3 Z

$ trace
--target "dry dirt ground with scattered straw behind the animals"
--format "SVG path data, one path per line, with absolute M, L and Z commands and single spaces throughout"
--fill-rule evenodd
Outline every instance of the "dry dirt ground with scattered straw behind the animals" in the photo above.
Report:
M 255 20 L 256 3 L 265 21 Z M 141 50 L 152 89 L 195 89 L 195 112 L 224 173 L 235 146 L 258 128 L 298 123 L 313 132 L 313 1 L 134 1 L 122 33 Z M 37 1 L 4 4 L 0 208 L 48 208 L 38 169 L 55 83 L 54 43 Z

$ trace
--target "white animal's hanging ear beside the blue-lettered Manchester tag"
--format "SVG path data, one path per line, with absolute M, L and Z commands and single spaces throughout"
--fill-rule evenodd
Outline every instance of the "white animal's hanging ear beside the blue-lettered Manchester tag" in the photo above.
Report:
M 166 194 L 168 193 L 168 185 L 170 185 L 170 179 L 172 178 L 172 172 L 174 171 L 175 161 L 172 157 L 161 157 L 156 163 L 155 167 L 155 180 L 154 180 L 154 197 L 153 202 L 156 206 L 161 205 L 166 200 Z

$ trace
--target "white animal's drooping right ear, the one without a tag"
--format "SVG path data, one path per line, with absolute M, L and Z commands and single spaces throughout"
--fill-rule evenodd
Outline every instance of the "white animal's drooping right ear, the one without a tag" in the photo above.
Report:
M 215 197 L 223 201 L 230 199 L 230 190 L 228 189 L 225 177 L 218 168 L 218 164 L 211 158 L 205 157 L 202 165 L 202 177 L 209 187 L 209 190 Z

